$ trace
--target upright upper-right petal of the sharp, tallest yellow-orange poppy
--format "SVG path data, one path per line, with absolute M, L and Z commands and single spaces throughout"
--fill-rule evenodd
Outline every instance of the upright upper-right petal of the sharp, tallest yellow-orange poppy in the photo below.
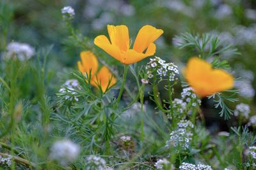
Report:
M 134 41 L 133 50 L 136 52 L 142 53 L 146 48 L 153 43 L 161 34 L 163 34 L 163 30 L 156 29 L 151 25 L 143 26 Z

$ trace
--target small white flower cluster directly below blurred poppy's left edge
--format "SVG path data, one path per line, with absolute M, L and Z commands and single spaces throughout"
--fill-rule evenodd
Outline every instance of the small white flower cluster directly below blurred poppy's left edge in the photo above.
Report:
M 181 98 L 186 101 L 187 104 L 191 103 L 191 106 L 200 106 L 201 100 L 196 97 L 194 89 L 192 87 L 186 87 L 181 92 Z

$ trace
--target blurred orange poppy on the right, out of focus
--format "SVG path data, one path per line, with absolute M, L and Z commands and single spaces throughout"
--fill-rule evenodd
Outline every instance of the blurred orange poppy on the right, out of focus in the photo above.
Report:
M 212 69 L 209 62 L 198 57 L 189 60 L 184 75 L 200 97 L 228 90 L 234 86 L 234 78 L 231 74 L 222 69 Z

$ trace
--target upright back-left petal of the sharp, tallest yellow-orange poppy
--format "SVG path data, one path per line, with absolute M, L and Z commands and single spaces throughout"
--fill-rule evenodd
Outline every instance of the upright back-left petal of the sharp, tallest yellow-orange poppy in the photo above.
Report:
M 129 31 L 126 25 L 108 25 L 108 34 L 112 45 L 126 52 L 129 49 Z

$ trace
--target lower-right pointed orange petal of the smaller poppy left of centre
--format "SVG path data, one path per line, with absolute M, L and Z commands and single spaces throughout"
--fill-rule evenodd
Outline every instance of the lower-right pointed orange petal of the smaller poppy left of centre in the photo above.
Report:
M 106 91 L 108 87 L 113 86 L 116 83 L 116 78 L 109 71 L 108 67 L 102 66 L 100 71 L 97 73 L 97 77 L 93 79 L 95 83 L 99 83 L 103 92 Z M 109 83 L 109 80 L 110 83 Z

